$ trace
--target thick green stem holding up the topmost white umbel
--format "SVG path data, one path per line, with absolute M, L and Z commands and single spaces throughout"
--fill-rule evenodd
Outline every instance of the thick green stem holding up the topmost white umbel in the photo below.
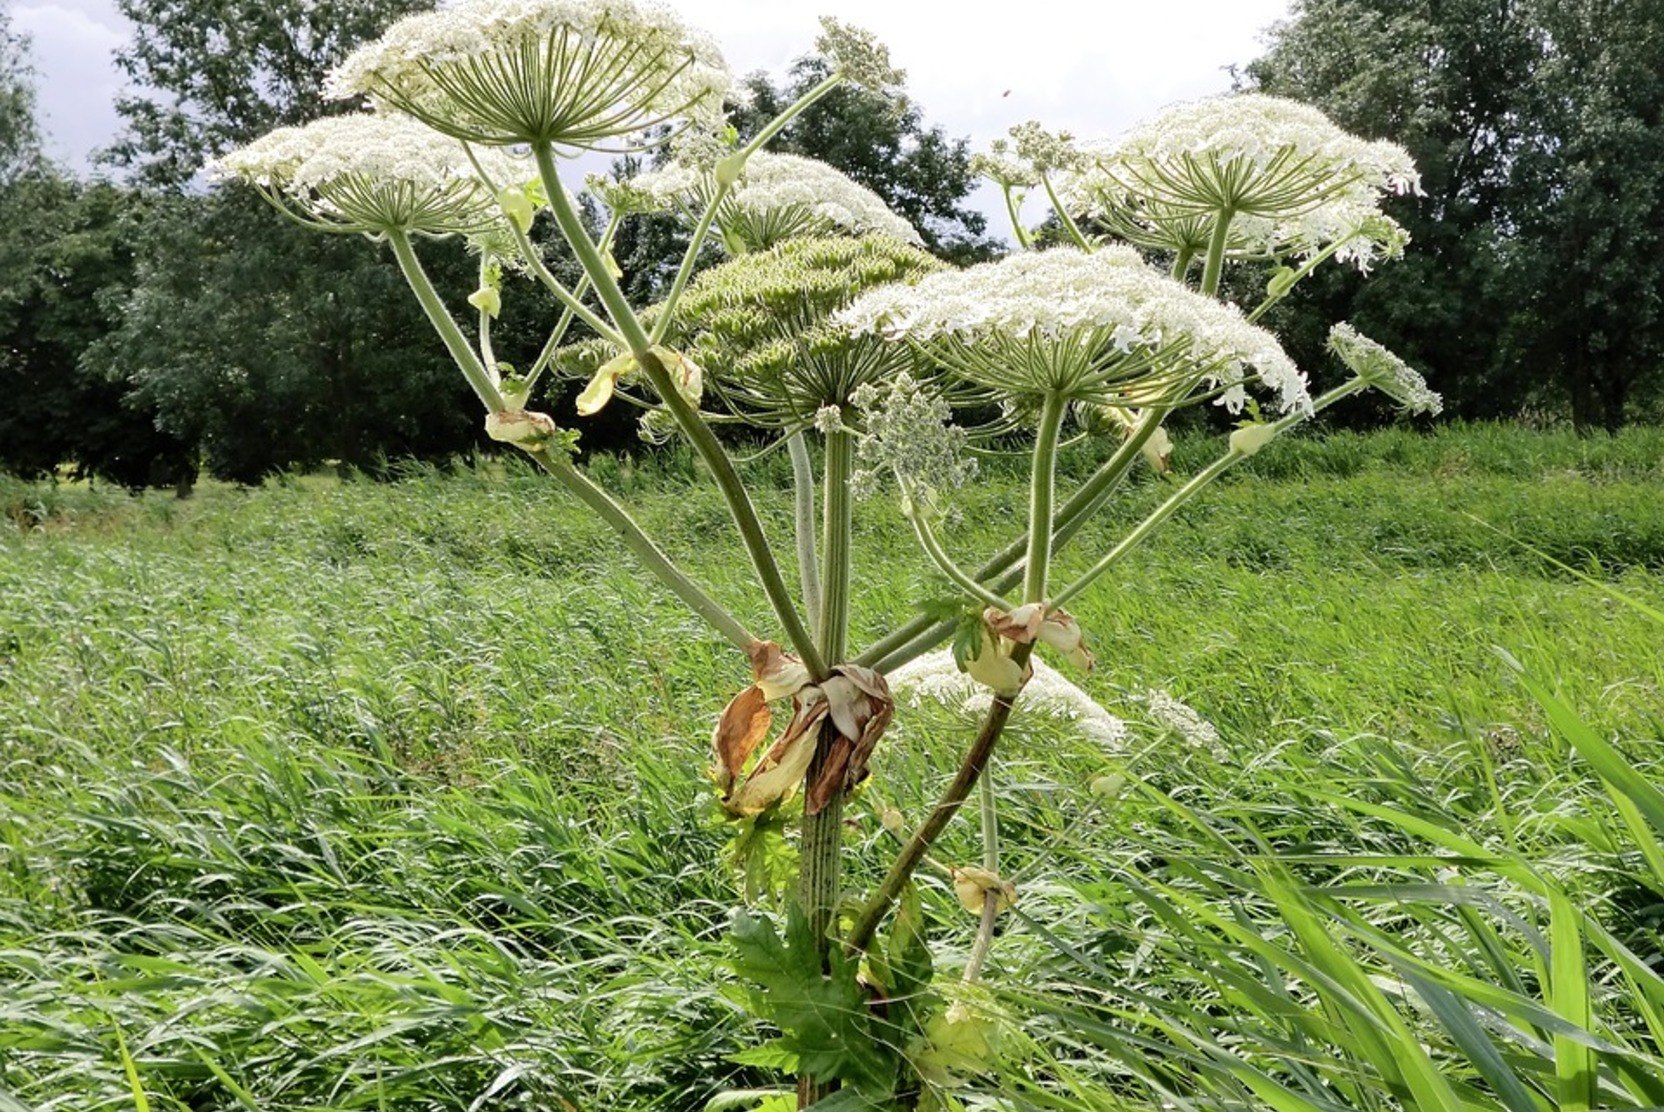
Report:
M 711 426 L 706 424 L 694 406 L 682 398 L 682 393 L 676 388 L 676 383 L 671 381 L 671 373 L 664 368 L 664 363 L 659 361 L 659 356 L 652 353 L 652 343 L 647 338 L 647 331 L 641 325 L 641 318 L 636 316 L 636 310 L 631 308 L 629 300 L 624 296 L 624 291 L 619 290 L 619 283 L 612 276 L 612 271 L 601 258 L 596 245 L 589 240 L 589 231 L 584 230 L 584 221 L 579 220 L 571 201 L 566 200 L 566 190 L 561 188 L 561 176 L 554 168 L 552 148 L 547 143 L 536 143 L 532 145 L 532 153 L 537 158 L 537 171 L 542 175 L 542 186 L 549 195 L 549 210 L 554 213 L 561 235 L 566 236 L 566 241 L 577 255 L 577 261 L 589 275 L 589 280 L 596 285 L 596 295 L 606 306 L 607 315 L 612 316 L 612 321 L 617 325 L 619 335 L 629 346 L 631 355 L 636 356 L 636 363 L 647 376 L 647 381 L 652 383 L 652 390 L 659 395 L 659 401 L 662 401 L 671 411 L 671 416 L 676 418 L 676 423 L 694 446 L 694 451 L 697 451 L 699 458 L 704 459 L 707 468 L 711 468 L 711 476 L 716 479 L 717 489 L 722 491 L 729 513 L 734 516 L 734 524 L 739 528 L 740 541 L 745 544 L 745 553 L 750 556 L 750 563 L 757 569 L 762 591 L 769 596 L 769 604 L 774 608 L 775 618 L 779 618 L 780 626 L 785 629 L 785 636 L 797 651 L 799 659 L 802 659 L 804 668 L 809 669 L 809 674 L 814 679 L 825 679 L 825 658 L 820 654 L 814 638 L 809 634 L 809 628 L 804 624 L 802 614 L 797 613 L 797 606 L 792 601 L 792 591 L 785 586 L 785 576 L 780 573 L 780 564 L 774 558 L 769 538 L 762 531 L 762 521 L 757 518 L 757 508 L 750 504 L 750 494 L 745 491 L 745 484 L 740 481 L 739 471 L 734 468 L 734 461 L 722 448 L 722 443 L 717 441 Z

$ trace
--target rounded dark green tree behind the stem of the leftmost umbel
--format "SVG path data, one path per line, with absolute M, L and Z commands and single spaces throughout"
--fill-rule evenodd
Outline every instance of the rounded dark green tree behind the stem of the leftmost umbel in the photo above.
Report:
M 290 226 L 243 190 L 168 198 L 146 228 L 166 250 L 140 263 L 88 360 L 125 373 L 213 474 L 373 469 L 476 443 L 463 380 L 374 245 Z M 461 248 L 436 263 L 453 288 L 468 281 Z

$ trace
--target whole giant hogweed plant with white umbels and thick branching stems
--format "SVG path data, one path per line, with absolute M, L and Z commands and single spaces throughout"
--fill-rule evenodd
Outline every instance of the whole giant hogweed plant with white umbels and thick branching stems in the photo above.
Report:
M 218 170 L 306 226 L 384 243 L 478 395 L 489 436 L 524 451 L 607 521 L 749 664 L 750 683 L 717 717 L 712 781 L 735 826 L 752 906 L 735 916 L 734 969 L 749 1005 L 779 1034 L 742 1057 L 799 1077 L 795 1094 L 757 1094 L 757 1102 L 957 1107 L 955 1079 L 993 1067 L 995 1024 L 968 985 L 1017 899 L 1000 876 L 988 769 L 1023 702 L 1030 658 L 1055 653 L 1090 669 L 1087 633 L 1065 606 L 1295 424 L 1366 388 L 1436 411 L 1419 376 L 1345 325 L 1331 348 L 1351 375 L 1313 396 L 1256 325 L 1326 260 L 1366 268 L 1399 253 L 1404 236 L 1379 200 L 1413 190 L 1416 176 L 1399 148 L 1263 97 L 1183 105 L 1118 143 L 1023 125 L 977 161 L 1005 191 L 1018 250 L 950 270 L 869 190 L 822 163 L 764 150 L 832 88 L 884 92 L 900 82 L 870 35 L 834 20 L 824 27 L 817 45 L 834 63 L 829 77 L 737 145 L 722 117 L 732 80 L 721 53 L 671 12 L 632 0 L 463 0 L 396 23 L 339 67 L 331 92 L 368 112 L 273 132 Z M 567 185 L 571 156 L 596 150 L 669 155 L 636 180 L 589 181 L 609 213 L 599 236 Z M 1037 190 L 1068 245 L 1035 250 L 1035 235 L 1015 220 L 1023 193 Z M 636 306 L 609 246 L 619 223 L 644 211 L 681 213 L 692 238 L 664 300 Z M 562 283 L 534 245 L 541 220 L 576 255 L 577 283 Z M 464 236 L 479 256 L 468 331 L 418 255 L 418 243 L 446 236 Z M 711 238 L 730 258 L 696 276 Z M 1225 268 L 1240 261 L 1275 268 L 1265 301 L 1246 313 L 1220 300 Z M 524 370 L 499 361 L 491 345 L 511 275 L 562 310 Z M 569 338 L 574 323 L 587 338 Z M 740 621 L 574 466 L 574 424 L 529 408 L 556 366 L 587 378 L 579 421 L 606 405 L 634 405 L 646 436 L 692 446 L 732 513 L 772 629 Z M 1246 415 L 1218 459 L 1171 478 L 1170 496 L 1083 573 L 1055 576 L 1055 553 L 1140 458 L 1168 469 L 1163 421 L 1201 403 Z M 967 428 L 953 424 L 955 413 L 995 416 Z M 790 453 L 794 561 L 764 529 L 716 433 L 722 423 Z M 1010 443 L 1013 431 L 1032 444 L 1027 513 L 1013 514 L 1007 548 L 968 566 L 942 526 L 973 471 L 967 451 L 990 433 Z M 1083 483 L 1060 491 L 1058 446 L 1077 434 L 1118 443 Z M 857 646 L 852 521 L 857 501 L 889 483 L 953 598 Z M 895 857 L 874 891 L 849 891 L 844 812 L 865 791 L 895 714 L 885 674 L 945 643 L 992 691 L 988 711 L 917 824 L 884 809 Z M 978 782 L 982 861 L 942 866 L 930 849 Z M 912 887 L 927 862 L 947 871 L 978 922 L 957 987 L 934 975 Z

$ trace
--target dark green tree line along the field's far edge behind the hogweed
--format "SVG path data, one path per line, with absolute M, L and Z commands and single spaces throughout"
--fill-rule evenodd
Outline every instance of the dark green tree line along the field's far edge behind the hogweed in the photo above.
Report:
M 424 7 L 121 0 L 136 33 L 118 65 L 135 92 L 116 105 L 110 175 L 93 180 L 42 153 L 27 42 L 0 7 L 0 469 L 188 489 L 200 471 L 376 469 L 479 443 L 463 383 L 374 245 L 288 226 L 203 180 L 213 156 L 343 110 L 323 100 L 324 73 Z M 742 135 L 824 65 L 749 78 Z M 1617 428 L 1659 413 L 1664 0 L 1296 0 L 1238 77 L 1406 145 L 1423 170 L 1423 195 L 1394 203 L 1414 236 L 1403 261 L 1369 283 L 1330 268 L 1278 310 L 1296 360 L 1315 366 L 1315 321 L 1345 316 L 1461 416 Z M 998 250 L 965 205 L 967 143 L 905 100 L 837 90 L 774 148 L 875 190 L 945 258 Z M 651 298 L 679 236 L 669 220 L 624 230 L 634 295 Z M 471 288 L 459 246 L 433 265 Z M 544 301 L 509 300 L 509 361 L 536 353 Z M 584 429 L 602 448 L 631 434 Z

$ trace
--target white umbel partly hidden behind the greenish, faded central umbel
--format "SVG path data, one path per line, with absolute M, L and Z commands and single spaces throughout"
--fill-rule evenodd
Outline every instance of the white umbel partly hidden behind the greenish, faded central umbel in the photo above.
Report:
M 629 196 L 651 198 L 659 210 L 689 221 L 709 205 L 716 176 L 669 165 L 624 183 Z M 626 193 L 619 193 L 626 196 Z M 890 211 L 877 193 L 815 158 L 757 151 L 717 206 L 716 225 L 730 253 L 762 251 L 792 236 L 887 235 L 920 245 L 919 230 Z

